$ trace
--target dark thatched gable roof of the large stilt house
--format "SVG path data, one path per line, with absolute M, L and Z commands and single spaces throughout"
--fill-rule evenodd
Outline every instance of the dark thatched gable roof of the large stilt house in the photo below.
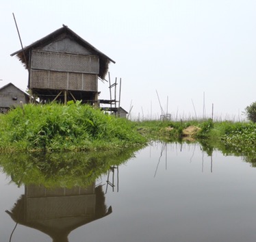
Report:
M 110 57 L 107 57 L 107 55 L 96 49 L 94 46 L 92 46 L 92 44 L 88 43 L 86 40 L 78 36 L 77 33 L 69 29 L 66 25 L 63 25 L 63 27 L 61 27 L 60 29 L 55 30 L 53 33 L 50 33 L 48 36 L 37 40 L 33 44 L 30 44 L 29 46 L 26 46 L 23 49 L 12 53 L 11 56 L 16 55 L 18 59 L 20 59 L 20 61 L 24 64 L 25 68 L 29 69 L 29 53 L 31 50 L 42 49 L 44 46 L 47 46 L 48 44 L 51 44 L 56 40 L 62 40 L 66 37 L 71 38 L 71 40 L 75 40 L 78 44 L 81 44 L 81 46 L 84 46 L 86 49 L 90 50 L 93 55 L 99 56 L 99 77 L 104 79 L 105 75 L 107 74 L 108 65 L 110 64 L 110 62 L 116 62 L 114 62 L 114 60 L 110 59 Z

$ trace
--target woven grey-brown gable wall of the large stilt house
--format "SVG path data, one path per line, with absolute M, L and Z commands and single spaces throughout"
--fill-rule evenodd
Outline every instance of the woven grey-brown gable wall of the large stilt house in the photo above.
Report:
M 98 91 L 99 57 L 70 38 L 31 51 L 29 88 Z

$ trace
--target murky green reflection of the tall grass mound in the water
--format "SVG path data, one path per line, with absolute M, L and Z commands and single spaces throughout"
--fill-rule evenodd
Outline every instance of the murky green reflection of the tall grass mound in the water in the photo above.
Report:
M 86 187 L 105 174 L 111 165 L 133 157 L 135 151 L 133 148 L 112 152 L 1 154 L 0 165 L 17 185 Z

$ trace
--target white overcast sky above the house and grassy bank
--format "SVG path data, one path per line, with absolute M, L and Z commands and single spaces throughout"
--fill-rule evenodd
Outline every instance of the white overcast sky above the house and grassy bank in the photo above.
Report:
M 255 0 L 8 0 L 0 3 L 0 87 L 27 88 L 10 54 L 68 25 L 114 59 L 121 106 L 133 118 L 235 119 L 256 101 Z M 99 83 L 100 98 L 110 98 Z M 168 102 L 167 102 L 168 100 Z M 168 107 L 168 110 L 167 110 Z

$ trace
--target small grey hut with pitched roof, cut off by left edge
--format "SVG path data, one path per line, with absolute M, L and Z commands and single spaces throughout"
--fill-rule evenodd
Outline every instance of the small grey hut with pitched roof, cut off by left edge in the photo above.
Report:
M 14 84 L 8 83 L 0 88 L 0 113 L 6 113 L 11 107 L 29 103 L 29 95 Z

